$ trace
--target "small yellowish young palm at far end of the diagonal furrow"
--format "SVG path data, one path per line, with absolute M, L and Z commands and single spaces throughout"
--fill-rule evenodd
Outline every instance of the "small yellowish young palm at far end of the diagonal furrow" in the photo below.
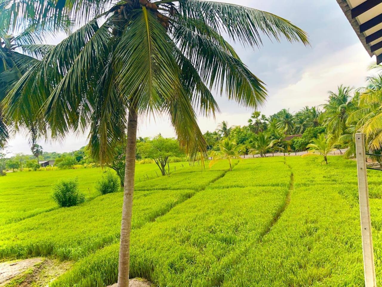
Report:
M 216 145 L 217 150 L 214 150 L 211 153 L 212 160 L 210 161 L 209 166 L 213 166 L 217 161 L 226 159 L 230 164 L 230 171 L 232 171 L 232 160 L 241 159 L 240 153 L 242 147 L 237 145 L 234 140 L 231 140 L 229 137 L 223 139 Z

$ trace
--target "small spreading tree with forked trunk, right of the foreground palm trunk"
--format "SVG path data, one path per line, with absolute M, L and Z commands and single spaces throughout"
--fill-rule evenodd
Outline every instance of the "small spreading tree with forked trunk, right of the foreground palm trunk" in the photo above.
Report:
M 184 152 L 181 150 L 179 143 L 175 139 L 166 139 L 158 135 L 152 140 L 138 143 L 137 152 L 142 158 L 151 158 L 155 161 L 162 175 L 166 172 L 166 165 L 170 157 L 182 157 Z

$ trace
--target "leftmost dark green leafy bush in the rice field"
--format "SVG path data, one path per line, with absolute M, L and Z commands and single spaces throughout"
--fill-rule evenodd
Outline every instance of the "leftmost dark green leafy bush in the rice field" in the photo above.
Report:
M 53 199 L 60 207 L 70 207 L 85 201 L 84 194 L 78 190 L 77 179 L 62 179 L 53 190 Z

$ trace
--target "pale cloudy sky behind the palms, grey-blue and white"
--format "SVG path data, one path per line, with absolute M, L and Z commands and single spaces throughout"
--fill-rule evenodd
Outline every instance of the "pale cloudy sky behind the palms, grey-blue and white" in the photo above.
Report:
M 269 91 L 267 116 L 282 108 L 298 111 L 303 106 L 317 106 L 327 99 L 327 91 L 338 85 L 363 86 L 366 67 L 371 63 L 363 46 L 335 0 L 227 0 L 282 16 L 309 34 L 311 47 L 303 44 L 272 42 L 263 38 L 261 49 L 243 48 L 233 43 L 244 64 L 263 80 Z M 202 132 L 215 130 L 221 121 L 245 125 L 253 112 L 217 96 L 221 114 L 216 120 L 199 118 Z M 168 119 L 141 118 L 139 135 L 151 137 L 161 133 L 174 137 Z M 68 152 L 86 145 L 87 135 L 69 135 L 62 143 L 40 142 L 44 151 Z M 28 139 L 16 135 L 9 143 L 9 152 L 30 153 Z

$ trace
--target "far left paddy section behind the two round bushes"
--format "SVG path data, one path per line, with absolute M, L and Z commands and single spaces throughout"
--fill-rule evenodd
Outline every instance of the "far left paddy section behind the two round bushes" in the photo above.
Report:
M 186 163 L 172 163 L 171 172 L 175 166 L 179 171 L 189 169 Z M 137 165 L 137 184 L 157 178 L 157 170 L 155 164 Z M 8 173 L 0 177 L 0 226 L 57 209 L 52 199 L 52 185 L 63 178 L 78 178 L 79 189 L 88 199 L 99 196 L 95 184 L 102 172 L 100 168 L 88 168 Z

